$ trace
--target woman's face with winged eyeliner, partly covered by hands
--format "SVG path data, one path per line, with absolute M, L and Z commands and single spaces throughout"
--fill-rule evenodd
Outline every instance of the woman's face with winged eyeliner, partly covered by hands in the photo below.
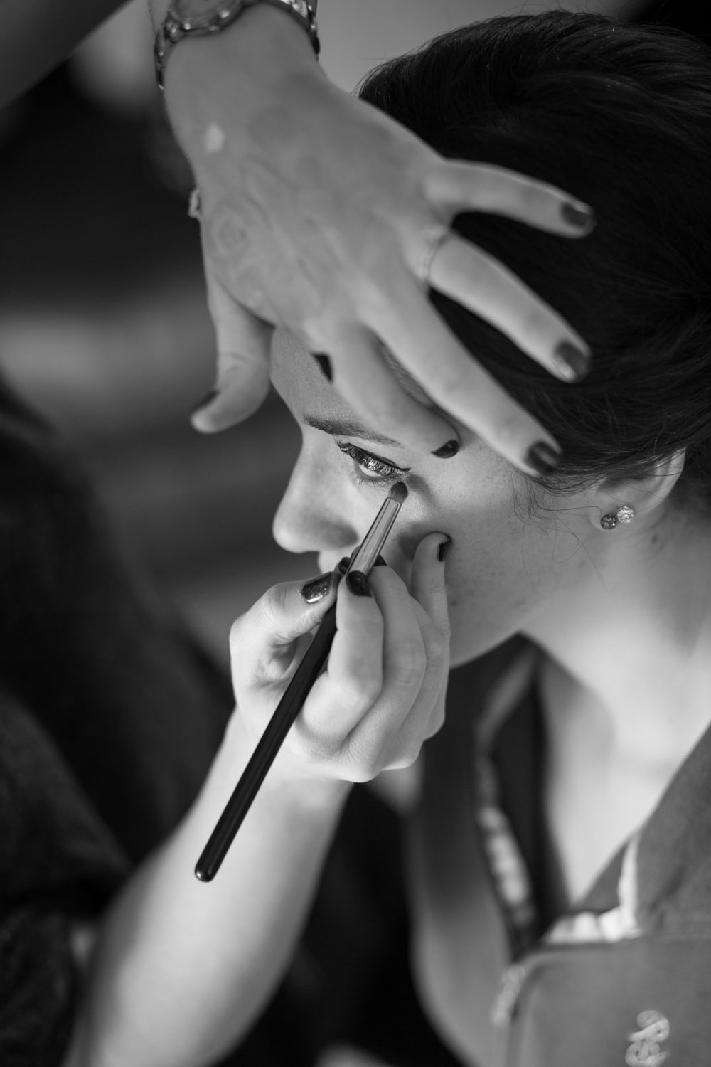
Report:
M 530 516 L 523 478 L 460 427 L 453 459 L 374 437 L 312 356 L 284 335 L 272 379 L 303 435 L 274 517 L 276 541 L 289 552 L 318 552 L 321 569 L 332 570 L 361 541 L 388 488 L 404 481 L 408 497 L 384 556 L 408 582 L 425 535 L 452 539 L 446 566 L 453 665 L 534 625 L 585 568 L 581 541 L 591 527 L 582 513 L 566 506 Z

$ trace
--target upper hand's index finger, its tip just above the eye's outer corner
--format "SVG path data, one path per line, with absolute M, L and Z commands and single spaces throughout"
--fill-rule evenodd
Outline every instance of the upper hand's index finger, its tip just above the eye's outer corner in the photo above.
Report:
M 341 331 L 328 346 L 328 354 L 334 386 L 370 429 L 429 452 L 456 437 L 443 418 L 403 388 L 386 365 L 382 345 L 373 334 L 356 328 Z

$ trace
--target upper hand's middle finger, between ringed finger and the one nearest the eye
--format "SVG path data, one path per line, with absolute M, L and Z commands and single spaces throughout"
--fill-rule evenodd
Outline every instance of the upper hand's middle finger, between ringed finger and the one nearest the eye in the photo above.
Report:
M 402 297 L 398 317 L 383 318 L 378 330 L 432 400 L 490 448 L 528 474 L 554 469 L 560 455 L 555 440 L 476 363 L 432 307 L 423 309 L 415 285 Z M 402 440 L 395 419 L 390 433 Z

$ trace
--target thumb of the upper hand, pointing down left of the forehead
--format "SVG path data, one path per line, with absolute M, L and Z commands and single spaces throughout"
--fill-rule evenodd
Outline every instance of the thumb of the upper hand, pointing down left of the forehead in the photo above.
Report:
M 238 304 L 206 267 L 208 304 L 217 341 L 217 372 L 210 399 L 191 416 L 196 430 L 212 433 L 247 418 L 270 387 L 273 327 Z

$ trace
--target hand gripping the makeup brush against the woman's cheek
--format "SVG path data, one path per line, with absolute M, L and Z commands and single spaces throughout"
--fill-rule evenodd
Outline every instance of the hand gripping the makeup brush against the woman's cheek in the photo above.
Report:
M 408 766 L 443 722 L 449 617 L 443 535 L 415 554 L 411 595 L 388 567 L 361 578 L 362 594 L 332 580 L 308 604 L 298 583 L 270 589 L 230 635 L 237 714 L 261 736 L 308 643 L 337 595 L 337 633 L 317 680 L 270 774 L 366 781 Z M 324 583 L 325 584 L 325 583 Z M 370 590 L 370 591 L 369 591 Z

